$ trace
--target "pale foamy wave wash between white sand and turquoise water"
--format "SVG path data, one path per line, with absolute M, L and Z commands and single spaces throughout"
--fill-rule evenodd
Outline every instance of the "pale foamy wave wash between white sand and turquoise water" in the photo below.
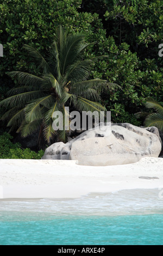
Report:
M 74 199 L 1 200 L 0 211 L 51 213 L 52 215 L 137 215 L 163 214 L 159 189 L 90 193 Z

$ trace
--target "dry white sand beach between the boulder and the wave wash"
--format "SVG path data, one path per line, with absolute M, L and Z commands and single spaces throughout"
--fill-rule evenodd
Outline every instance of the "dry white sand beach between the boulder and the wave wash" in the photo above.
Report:
M 80 166 L 67 160 L 0 160 L 0 199 L 78 198 L 91 192 L 163 189 L 163 159 L 117 166 Z

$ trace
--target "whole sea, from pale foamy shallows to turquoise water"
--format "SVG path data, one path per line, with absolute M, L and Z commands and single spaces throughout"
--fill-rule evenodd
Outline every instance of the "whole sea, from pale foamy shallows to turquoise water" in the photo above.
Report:
M 160 190 L 0 202 L 0 245 L 162 245 Z

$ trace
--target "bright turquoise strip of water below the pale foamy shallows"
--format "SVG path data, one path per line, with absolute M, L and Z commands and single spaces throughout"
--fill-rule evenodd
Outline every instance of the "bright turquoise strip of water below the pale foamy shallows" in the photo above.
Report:
M 162 245 L 162 217 L 163 215 L 51 216 L 48 220 L 40 220 L 39 217 L 39 220 L 28 221 L 23 218 L 18 221 L 4 220 L 0 222 L 0 244 Z

